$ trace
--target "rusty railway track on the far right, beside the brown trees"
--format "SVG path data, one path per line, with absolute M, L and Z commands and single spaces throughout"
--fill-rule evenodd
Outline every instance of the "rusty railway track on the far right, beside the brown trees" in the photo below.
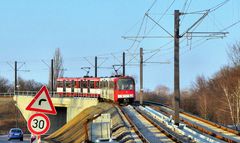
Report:
M 147 104 L 156 106 L 161 112 L 164 112 L 168 116 L 174 115 L 174 111 L 172 109 L 163 106 L 162 104 L 153 102 L 147 102 Z M 222 141 L 231 143 L 240 142 L 240 133 L 238 131 L 220 126 L 185 112 L 180 113 L 180 120 L 186 125 Z

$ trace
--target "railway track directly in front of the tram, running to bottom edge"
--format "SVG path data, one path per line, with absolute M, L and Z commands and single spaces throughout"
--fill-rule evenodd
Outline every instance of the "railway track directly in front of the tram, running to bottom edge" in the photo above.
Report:
M 172 143 L 172 142 L 188 142 L 184 139 L 179 139 L 176 134 L 169 130 L 163 129 L 138 107 L 125 106 L 121 107 L 122 112 L 135 130 L 142 142 L 147 143 Z

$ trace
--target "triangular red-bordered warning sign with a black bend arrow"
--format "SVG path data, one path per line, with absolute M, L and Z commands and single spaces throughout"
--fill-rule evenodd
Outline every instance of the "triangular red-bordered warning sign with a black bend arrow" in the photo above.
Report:
M 33 100 L 27 106 L 26 110 L 42 112 L 46 114 L 57 114 L 46 86 L 43 86 L 39 90 L 39 92 L 35 95 Z

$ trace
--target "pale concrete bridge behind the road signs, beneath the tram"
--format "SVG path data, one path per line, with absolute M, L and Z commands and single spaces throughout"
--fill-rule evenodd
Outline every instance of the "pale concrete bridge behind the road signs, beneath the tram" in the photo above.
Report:
M 25 110 L 27 105 L 32 101 L 33 97 L 34 96 L 29 96 L 28 94 L 19 94 L 13 96 L 14 101 L 16 101 L 16 106 L 21 111 L 26 121 L 29 119 L 31 114 L 34 113 Z M 54 96 L 51 98 L 51 100 L 57 111 L 57 115 L 47 115 L 51 121 L 51 127 L 47 134 L 51 134 L 57 129 L 61 128 L 85 108 L 98 104 L 97 98 L 86 97 Z

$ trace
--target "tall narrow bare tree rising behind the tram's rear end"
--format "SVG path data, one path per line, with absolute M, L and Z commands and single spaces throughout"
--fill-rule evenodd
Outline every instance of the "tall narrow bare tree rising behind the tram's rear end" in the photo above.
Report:
M 64 68 L 63 68 L 63 58 L 61 55 L 61 51 L 60 48 L 57 48 L 55 50 L 54 56 L 53 56 L 53 85 L 54 85 L 54 89 L 56 89 L 56 81 L 57 78 L 59 77 L 63 77 L 64 74 Z M 49 73 L 49 85 L 51 85 L 51 70 Z

